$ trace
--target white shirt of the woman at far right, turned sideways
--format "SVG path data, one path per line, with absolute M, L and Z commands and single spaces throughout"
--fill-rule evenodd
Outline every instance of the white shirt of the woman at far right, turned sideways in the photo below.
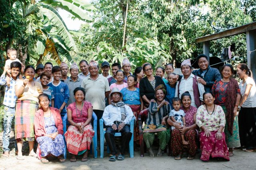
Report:
M 249 92 L 246 101 L 244 101 L 244 103 L 242 104 L 242 107 L 256 107 L 256 86 L 254 80 L 251 77 L 248 77 L 244 84 L 243 80 L 239 83 L 241 94 L 242 96 L 244 96 L 247 84 L 251 84 L 252 88 Z

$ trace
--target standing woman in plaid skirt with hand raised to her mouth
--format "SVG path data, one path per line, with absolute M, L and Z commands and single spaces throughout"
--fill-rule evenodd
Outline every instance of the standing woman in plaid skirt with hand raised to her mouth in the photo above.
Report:
M 23 160 L 22 140 L 29 142 L 29 155 L 36 157 L 34 147 L 34 115 L 38 109 L 38 96 L 43 92 L 42 85 L 34 81 L 35 69 L 26 66 L 26 78 L 15 84 L 15 93 L 18 96 L 15 111 L 15 139 L 17 140 L 18 157 Z M 28 77 L 28 78 L 27 78 Z

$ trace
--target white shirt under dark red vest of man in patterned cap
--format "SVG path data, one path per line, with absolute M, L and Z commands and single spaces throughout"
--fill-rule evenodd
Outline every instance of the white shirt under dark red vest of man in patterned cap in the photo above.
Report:
M 190 76 L 187 78 L 187 79 L 184 79 L 184 76 L 182 76 L 180 82 L 178 82 L 176 84 L 176 89 L 175 89 L 175 97 L 181 97 L 181 95 L 188 91 L 190 96 L 191 96 L 191 106 L 194 106 L 196 107 L 196 104 L 195 104 L 195 99 L 194 99 L 194 90 L 193 90 L 193 78 L 195 77 L 194 74 L 190 74 Z M 197 76 L 197 79 L 199 77 Z M 178 96 L 178 84 L 180 83 L 180 96 Z M 199 99 L 201 101 L 203 101 L 203 94 L 205 92 L 204 90 L 204 85 L 202 85 L 201 83 L 198 83 L 198 90 L 199 90 L 199 94 L 200 94 L 200 97 Z

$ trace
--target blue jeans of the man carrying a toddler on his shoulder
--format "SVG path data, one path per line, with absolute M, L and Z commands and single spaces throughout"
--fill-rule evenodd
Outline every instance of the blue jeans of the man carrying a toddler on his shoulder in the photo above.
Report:
M 14 119 L 15 108 L 4 106 L 4 133 L 3 133 L 3 148 L 4 152 L 9 152 L 10 132 L 12 128 L 12 120 Z

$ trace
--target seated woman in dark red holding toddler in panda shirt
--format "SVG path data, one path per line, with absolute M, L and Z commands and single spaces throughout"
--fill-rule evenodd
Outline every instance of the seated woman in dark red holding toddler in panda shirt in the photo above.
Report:
M 170 118 L 168 123 L 174 126 L 175 129 L 172 131 L 171 137 L 171 150 L 172 154 L 175 156 L 175 160 L 180 160 L 182 158 L 183 150 L 188 150 L 188 160 L 194 159 L 196 156 L 196 111 L 197 108 L 191 106 L 191 96 L 189 92 L 185 92 L 181 95 L 182 106 L 180 109 L 184 110 L 186 113 L 186 127 L 181 127 L 180 124 L 174 123 Z M 184 134 L 185 140 L 188 141 L 188 145 L 182 145 L 181 134 Z

